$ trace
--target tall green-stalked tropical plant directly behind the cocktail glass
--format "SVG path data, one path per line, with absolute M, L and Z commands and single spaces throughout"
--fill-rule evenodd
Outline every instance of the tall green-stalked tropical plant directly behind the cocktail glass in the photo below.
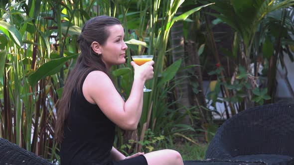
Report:
M 166 66 L 166 59 L 169 58 L 169 52 L 167 51 L 169 31 L 174 22 L 186 19 L 191 13 L 198 11 L 204 6 L 209 5 L 207 4 L 204 6 L 198 6 L 175 17 L 174 14 L 176 13 L 178 7 L 183 3 L 183 1 L 184 0 L 171 0 L 167 3 L 160 2 L 159 0 L 153 2 L 139 1 L 137 3 L 137 6 L 139 6 L 138 8 L 140 8 L 141 12 L 133 11 L 130 12 L 129 15 L 124 14 L 126 15 L 126 17 L 124 17 L 126 19 L 123 19 L 124 27 L 126 27 L 127 29 L 129 29 L 130 26 L 132 26 L 132 28 L 135 28 L 133 30 L 136 31 L 136 36 L 138 36 L 139 40 L 136 41 L 134 39 L 131 39 L 126 42 L 129 44 L 132 53 L 136 55 L 147 53 L 153 54 L 155 56 L 154 78 L 151 81 L 147 82 L 147 86 L 150 85 L 152 91 L 149 93 L 145 93 L 144 109 L 138 133 L 140 137 L 137 137 L 138 140 L 144 139 L 144 133 L 147 128 L 150 128 L 151 131 L 154 132 L 156 135 L 168 135 L 172 133 L 172 131 L 170 130 L 175 127 L 174 124 L 169 124 L 169 120 L 167 120 L 165 116 L 169 114 L 169 107 L 171 107 L 172 104 L 175 103 L 173 101 L 169 104 L 168 93 L 171 92 L 174 87 L 179 84 L 179 82 L 183 79 L 181 78 L 180 80 L 176 81 L 175 84 L 171 81 L 175 77 L 176 72 L 179 70 L 182 60 L 179 59 L 177 61 L 174 61 L 170 66 Z M 133 6 L 134 4 L 130 1 L 130 3 L 127 3 L 127 6 L 124 6 L 125 8 L 123 10 L 131 11 L 131 8 Z M 134 20 L 134 15 L 136 14 L 140 15 L 139 20 L 141 20 L 138 22 L 137 27 L 134 25 L 136 24 L 136 20 L 138 19 L 136 18 Z M 132 20 L 132 25 L 129 25 L 130 20 Z M 138 45 L 138 47 L 134 47 L 131 44 Z M 131 59 L 131 52 L 128 54 L 128 59 Z M 126 68 L 119 68 L 113 72 L 115 76 L 120 78 L 118 81 L 121 83 L 120 90 L 125 93 L 124 96 L 126 97 L 128 97 L 131 89 L 128 83 L 131 83 L 133 81 L 132 72 L 129 72 L 132 71 L 129 62 L 130 60 L 128 60 L 125 66 Z M 174 115 L 175 113 L 171 114 Z M 182 117 L 179 117 L 176 123 L 180 123 L 182 119 Z M 182 126 L 183 125 L 178 125 L 178 127 Z M 185 130 L 191 129 L 191 127 L 185 126 L 182 128 L 184 128 Z M 133 139 L 136 138 L 133 137 Z M 121 140 L 121 142 L 123 141 Z M 140 149 L 141 147 L 139 146 L 136 148 Z

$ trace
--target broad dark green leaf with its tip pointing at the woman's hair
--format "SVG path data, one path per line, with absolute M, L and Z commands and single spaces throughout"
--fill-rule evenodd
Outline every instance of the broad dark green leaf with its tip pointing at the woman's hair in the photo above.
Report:
M 39 80 L 41 80 L 47 76 L 55 75 L 56 73 L 60 72 L 60 69 L 63 67 L 63 64 L 67 60 L 70 60 L 70 59 L 75 58 L 77 56 L 78 56 L 78 54 L 75 56 L 62 57 L 59 59 L 51 60 L 51 61 L 41 65 L 40 68 L 38 68 L 34 73 L 32 73 L 31 75 L 28 76 L 28 78 L 27 78 L 28 83 L 31 86 L 34 86 Z

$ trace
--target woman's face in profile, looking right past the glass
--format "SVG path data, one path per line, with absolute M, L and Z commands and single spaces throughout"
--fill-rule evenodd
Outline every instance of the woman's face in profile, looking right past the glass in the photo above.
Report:
M 113 65 L 124 64 L 126 62 L 125 53 L 128 46 L 124 41 L 125 32 L 122 25 L 109 26 L 108 31 L 110 35 L 105 44 L 101 46 L 101 58 L 106 68 L 110 69 Z

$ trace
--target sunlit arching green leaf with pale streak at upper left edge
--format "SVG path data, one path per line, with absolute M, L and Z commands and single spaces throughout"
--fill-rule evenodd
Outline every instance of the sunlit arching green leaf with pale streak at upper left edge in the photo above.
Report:
M 0 20 L 0 30 L 15 44 L 22 45 L 22 38 L 20 32 L 11 24 Z

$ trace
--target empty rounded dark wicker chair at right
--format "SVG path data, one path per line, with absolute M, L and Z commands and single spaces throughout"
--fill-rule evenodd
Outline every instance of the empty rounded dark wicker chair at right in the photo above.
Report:
M 205 159 L 294 165 L 294 104 L 268 104 L 226 120 Z

